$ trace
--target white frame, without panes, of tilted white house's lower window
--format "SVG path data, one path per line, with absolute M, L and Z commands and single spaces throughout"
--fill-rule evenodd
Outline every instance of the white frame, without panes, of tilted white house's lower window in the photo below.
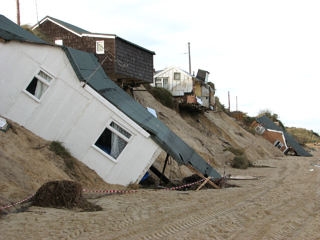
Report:
M 125 135 L 123 135 L 121 132 L 117 131 L 116 129 L 114 129 L 110 124 L 111 122 L 114 122 L 115 124 L 117 124 L 119 127 L 121 127 L 123 130 L 125 130 L 126 132 L 128 132 L 129 134 L 131 134 L 131 136 L 129 138 L 127 138 Z M 117 136 L 119 136 L 120 138 L 122 138 L 124 141 L 127 142 L 127 144 L 125 145 L 125 147 L 122 149 L 122 151 L 120 152 L 120 154 L 118 155 L 118 157 L 115 159 L 114 157 L 112 157 L 110 154 L 108 154 L 107 152 L 103 151 L 100 147 L 98 147 L 97 145 L 95 145 L 96 141 L 99 139 L 99 137 L 101 136 L 101 134 L 103 133 L 103 131 L 105 130 L 105 128 L 108 128 L 110 131 L 112 131 L 114 134 L 116 134 Z M 107 158 L 109 158 L 111 161 L 113 162 L 117 162 L 117 160 L 119 159 L 120 155 L 122 154 L 122 152 L 125 150 L 125 148 L 128 146 L 128 144 L 130 143 L 130 141 L 132 140 L 134 136 L 134 133 L 132 133 L 130 130 L 128 130 L 126 127 L 124 127 L 122 124 L 120 124 L 119 122 L 117 122 L 116 120 L 114 120 L 113 118 L 111 118 L 107 124 L 103 127 L 102 131 L 98 134 L 98 136 L 95 138 L 95 140 L 93 141 L 93 143 L 91 144 L 91 146 L 96 149 L 97 151 L 99 151 L 101 154 L 103 154 L 104 156 L 106 156 Z

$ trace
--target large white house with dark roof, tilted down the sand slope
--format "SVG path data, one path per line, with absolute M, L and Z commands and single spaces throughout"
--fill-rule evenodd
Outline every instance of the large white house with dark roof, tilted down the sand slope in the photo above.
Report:
M 63 142 L 106 182 L 138 182 L 161 148 L 221 177 L 110 80 L 95 54 L 49 44 L 0 15 L 0 55 L 0 115 Z

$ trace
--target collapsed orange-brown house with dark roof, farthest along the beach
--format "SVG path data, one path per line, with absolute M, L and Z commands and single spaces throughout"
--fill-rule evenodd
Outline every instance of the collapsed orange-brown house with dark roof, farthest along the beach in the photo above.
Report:
M 299 156 L 312 156 L 266 115 L 255 118 L 252 127 L 284 154 L 292 151 Z

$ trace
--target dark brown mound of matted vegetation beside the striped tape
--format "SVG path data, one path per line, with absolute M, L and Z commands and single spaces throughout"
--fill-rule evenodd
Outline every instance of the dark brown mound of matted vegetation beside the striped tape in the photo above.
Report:
M 80 208 L 82 211 L 99 211 L 102 207 L 87 201 L 79 183 L 55 180 L 44 183 L 36 192 L 33 205 L 42 207 Z

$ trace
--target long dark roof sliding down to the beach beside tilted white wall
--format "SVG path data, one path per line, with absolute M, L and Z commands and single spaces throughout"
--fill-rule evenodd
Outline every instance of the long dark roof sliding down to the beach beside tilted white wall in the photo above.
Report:
M 63 46 L 63 49 L 80 81 L 90 76 L 99 66 L 99 62 L 93 53 L 65 46 Z M 148 131 L 151 138 L 179 165 L 189 163 L 204 176 L 221 177 L 212 166 L 205 162 L 181 138 L 110 80 L 101 67 L 91 76 L 87 84 L 135 123 Z

